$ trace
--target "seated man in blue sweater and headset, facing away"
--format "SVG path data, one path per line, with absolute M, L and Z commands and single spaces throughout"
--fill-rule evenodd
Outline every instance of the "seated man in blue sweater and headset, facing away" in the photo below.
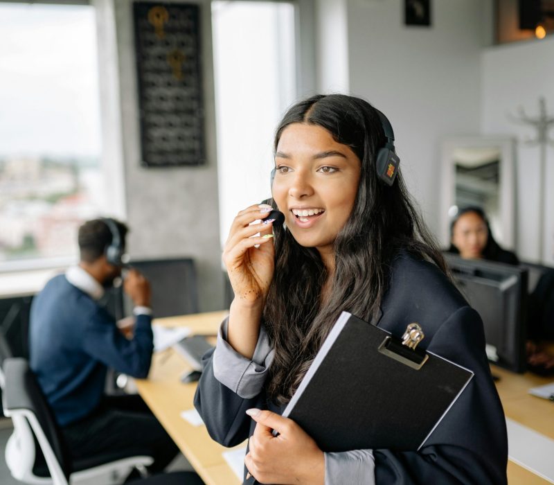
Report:
M 154 458 L 163 470 L 178 449 L 140 396 L 105 396 L 108 367 L 145 378 L 152 358 L 150 284 L 129 270 L 124 290 L 136 323 L 126 338 L 98 303 L 121 274 L 125 224 L 112 219 L 79 229 L 80 263 L 55 276 L 30 310 L 30 367 L 50 403 L 74 459 L 129 450 Z

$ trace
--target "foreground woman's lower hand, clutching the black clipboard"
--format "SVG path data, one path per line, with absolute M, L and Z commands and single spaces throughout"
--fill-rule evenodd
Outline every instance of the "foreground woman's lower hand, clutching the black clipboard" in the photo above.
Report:
M 257 424 L 244 464 L 258 482 L 323 485 L 325 456 L 300 426 L 271 411 L 249 409 L 247 414 Z M 272 430 L 278 431 L 278 436 Z

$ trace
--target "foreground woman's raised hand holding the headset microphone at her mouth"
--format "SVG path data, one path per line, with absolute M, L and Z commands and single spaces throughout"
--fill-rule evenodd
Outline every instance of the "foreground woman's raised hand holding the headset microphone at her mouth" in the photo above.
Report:
M 223 262 L 235 299 L 249 306 L 265 301 L 273 278 L 275 251 L 271 243 L 271 222 L 251 224 L 267 218 L 270 210 L 271 206 L 261 204 L 240 211 L 231 224 L 223 249 Z M 252 237 L 258 232 L 260 236 Z

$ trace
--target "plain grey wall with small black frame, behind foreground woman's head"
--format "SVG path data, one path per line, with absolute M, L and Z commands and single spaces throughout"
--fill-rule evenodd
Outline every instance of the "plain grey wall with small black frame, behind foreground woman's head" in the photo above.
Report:
M 325 3 L 346 9 L 350 92 L 390 118 L 404 177 L 436 231 L 440 141 L 479 132 L 480 54 L 492 39 L 492 1 L 431 2 L 430 28 L 404 26 L 400 0 L 325 0 L 318 6 Z M 318 40 L 325 35 L 336 34 L 320 21 Z M 334 90 L 324 83 L 323 90 Z

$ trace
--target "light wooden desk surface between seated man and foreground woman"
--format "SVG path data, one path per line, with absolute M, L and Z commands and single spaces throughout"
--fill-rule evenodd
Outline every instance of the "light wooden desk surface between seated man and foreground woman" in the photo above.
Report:
M 186 326 L 193 333 L 214 334 L 227 314 L 224 311 L 167 317 L 155 323 Z M 181 412 L 193 409 L 196 390 L 196 383 L 184 384 L 179 380 L 187 369 L 190 367 L 175 351 L 162 351 L 154 355 L 148 380 L 137 379 L 136 387 L 206 485 L 239 485 L 240 481 L 222 456 L 229 448 L 213 441 L 205 426 L 193 426 L 181 418 Z

